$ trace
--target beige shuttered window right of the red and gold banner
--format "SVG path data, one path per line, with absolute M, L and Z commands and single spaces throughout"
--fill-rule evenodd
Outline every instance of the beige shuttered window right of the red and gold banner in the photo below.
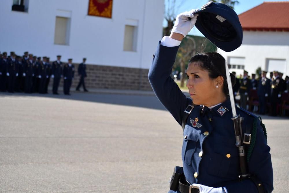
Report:
M 125 37 L 123 51 L 136 52 L 137 47 L 137 26 L 125 25 Z

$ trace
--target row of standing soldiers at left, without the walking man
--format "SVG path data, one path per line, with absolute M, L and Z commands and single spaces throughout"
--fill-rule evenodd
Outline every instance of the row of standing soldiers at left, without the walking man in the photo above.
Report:
M 49 58 L 36 57 L 28 52 L 16 56 L 14 52 L 0 53 L 0 91 L 1 92 L 25 92 L 25 93 L 48 93 L 50 78 L 53 78 L 53 94 L 58 95 L 60 79 L 63 77 L 63 91 L 70 95 L 70 87 L 74 78 L 74 65 L 72 59 L 63 64 L 61 56 L 51 65 Z

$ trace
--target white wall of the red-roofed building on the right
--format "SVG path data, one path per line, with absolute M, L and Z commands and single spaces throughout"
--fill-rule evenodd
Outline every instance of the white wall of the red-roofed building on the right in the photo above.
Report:
M 286 60 L 285 78 L 289 74 L 289 32 L 243 32 L 242 45 L 232 51 L 225 52 L 218 49 L 226 60 L 229 57 L 244 57 L 245 70 L 255 73 L 258 67 L 268 71 L 266 59 L 283 59 Z M 243 74 L 241 69 L 230 69 L 236 71 L 237 75 Z M 269 76 L 269 73 L 267 74 Z

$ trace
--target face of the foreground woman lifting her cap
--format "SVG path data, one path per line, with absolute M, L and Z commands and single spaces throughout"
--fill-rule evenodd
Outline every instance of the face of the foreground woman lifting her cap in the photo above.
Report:
M 211 79 L 209 72 L 201 69 L 198 62 L 189 63 L 187 76 L 188 81 L 186 86 L 189 89 L 190 97 L 194 104 L 210 104 L 210 101 L 218 96 L 218 92 L 222 89 L 221 86 L 216 88 L 216 85 L 218 85 L 216 79 Z

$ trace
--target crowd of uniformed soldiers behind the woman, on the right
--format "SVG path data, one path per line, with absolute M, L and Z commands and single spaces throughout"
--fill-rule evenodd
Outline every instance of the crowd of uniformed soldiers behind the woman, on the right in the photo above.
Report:
M 232 72 L 236 76 L 236 72 Z M 281 96 L 289 90 L 289 77 L 282 79 L 283 73 L 278 71 L 270 72 L 270 78 L 266 77 L 267 72 L 262 71 L 261 76 L 256 79 L 256 75 L 252 74 L 252 78 L 248 78 L 248 72 L 244 70 L 243 78 L 236 81 L 233 87 L 234 95 L 240 94 L 240 106 L 247 109 L 249 94 L 252 90 L 257 90 L 259 100 L 259 113 L 266 113 L 266 103 L 271 102 L 271 115 L 277 115 L 277 104 L 281 102 Z M 253 110 L 253 109 L 249 109 Z

